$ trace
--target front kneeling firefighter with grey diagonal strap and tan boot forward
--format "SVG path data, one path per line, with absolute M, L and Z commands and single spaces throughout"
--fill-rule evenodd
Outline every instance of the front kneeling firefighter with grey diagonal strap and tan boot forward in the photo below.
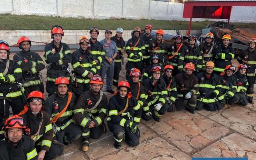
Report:
M 82 151 L 89 150 L 90 137 L 100 138 L 104 132 L 108 100 L 101 88 L 104 84 L 99 75 L 92 76 L 91 90 L 84 92 L 76 103 L 73 119 L 82 127 Z

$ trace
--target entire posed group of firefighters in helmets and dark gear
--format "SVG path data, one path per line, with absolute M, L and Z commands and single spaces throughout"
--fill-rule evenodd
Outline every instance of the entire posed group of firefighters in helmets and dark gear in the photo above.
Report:
M 211 32 L 199 46 L 196 36 L 184 42 L 181 34 L 169 46 L 163 30 L 157 30 L 156 36 L 151 31 L 150 24 L 142 35 L 136 27 L 125 42 L 122 28 L 117 28 L 115 36 L 106 30 L 105 39 L 99 42 L 99 30 L 92 27 L 90 39 L 82 36 L 80 48 L 72 53 L 62 42 L 62 27 L 53 26 L 53 40 L 45 46 L 43 57 L 48 98 L 44 98 L 40 73 L 45 63 L 30 50 L 30 38 L 18 39 L 21 50 L 13 60 L 8 43 L 1 40 L 0 159 L 50 160 L 80 137 L 81 150 L 86 152 L 90 138 L 100 138 L 106 126 L 114 135 L 115 148 L 122 141 L 137 146 L 141 118 L 159 122 L 166 112 L 183 108 L 194 114 L 203 108 L 216 111 L 227 104 L 254 103 L 256 38 L 240 52 L 236 70 L 228 34 L 220 46 L 213 44 Z M 126 81 L 120 81 L 124 54 Z M 106 90 L 113 94 L 109 100 L 102 91 L 105 75 Z M 10 107 L 14 116 L 9 117 Z

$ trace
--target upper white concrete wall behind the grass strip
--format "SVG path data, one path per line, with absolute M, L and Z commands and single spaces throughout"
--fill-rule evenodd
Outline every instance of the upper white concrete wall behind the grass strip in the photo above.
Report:
M 184 4 L 158 0 L 1 0 L 0 6 L 0 14 L 92 19 L 188 20 L 182 18 Z M 256 7 L 234 7 L 230 22 L 255 23 L 255 12 Z

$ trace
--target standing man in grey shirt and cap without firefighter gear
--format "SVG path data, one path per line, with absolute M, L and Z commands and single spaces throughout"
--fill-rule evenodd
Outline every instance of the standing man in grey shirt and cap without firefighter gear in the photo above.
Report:
M 111 30 L 105 31 L 105 39 L 100 41 L 104 47 L 106 56 L 102 61 L 102 78 L 107 74 L 107 89 L 106 91 L 113 94 L 112 90 L 112 80 L 114 75 L 114 59 L 117 56 L 118 50 L 116 48 L 116 43 L 113 40 L 110 40 L 112 36 Z

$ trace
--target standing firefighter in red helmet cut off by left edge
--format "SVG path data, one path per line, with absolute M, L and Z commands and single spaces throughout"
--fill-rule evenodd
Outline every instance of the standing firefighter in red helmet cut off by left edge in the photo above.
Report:
M 13 114 L 18 114 L 24 106 L 24 88 L 17 85 L 22 77 L 18 63 L 9 59 L 10 47 L 7 42 L 0 40 L 0 127 L 4 126 L 9 117 L 10 106 Z

